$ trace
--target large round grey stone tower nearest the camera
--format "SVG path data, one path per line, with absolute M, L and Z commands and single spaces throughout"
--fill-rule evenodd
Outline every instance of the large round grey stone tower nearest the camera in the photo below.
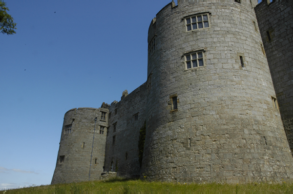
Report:
M 188 1 L 168 4 L 149 27 L 142 176 L 225 183 L 292 178 L 255 2 Z

